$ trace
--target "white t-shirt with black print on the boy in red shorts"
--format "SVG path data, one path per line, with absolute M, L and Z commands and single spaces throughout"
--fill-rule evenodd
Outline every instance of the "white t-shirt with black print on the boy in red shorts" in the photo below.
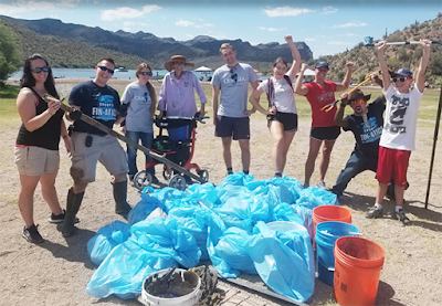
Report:
M 382 91 L 387 99 L 386 119 L 379 146 L 397 150 L 414 150 L 415 126 L 423 93 L 414 86 L 407 94 L 391 84 Z

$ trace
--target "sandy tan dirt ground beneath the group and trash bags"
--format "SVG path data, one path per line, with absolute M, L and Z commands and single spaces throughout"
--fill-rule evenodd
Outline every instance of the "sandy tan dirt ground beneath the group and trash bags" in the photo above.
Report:
M 59 91 L 66 95 L 77 81 L 59 80 Z M 127 81 L 112 81 L 110 85 L 122 89 Z M 159 84 L 157 84 L 159 86 Z M 210 112 L 209 112 L 210 114 Z M 309 120 L 301 120 L 299 128 L 288 152 L 285 175 L 303 180 L 304 162 L 308 148 Z M 13 163 L 13 146 L 19 118 L 3 123 L 0 144 L 0 305 L 139 305 L 136 300 L 108 297 L 97 300 L 85 292 L 95 266 L 90 261 L 86 243 L 103 225 L 118 219 L 114 213 L 110 177 L 99 166 L 97 179 L 86 190 L 78 213 L 81 223 L 77 234 L 70 239 L 61 235 L 61 226 L 48 222 L 50 210 L 35 192 L 34 218 L 40 232 L 46 240 L 41 245 L 28 243 L 22 236 L 23 221 L 17 199 L 20 190 L 19 176 Z M 394 203 L 385 201 L 387 215 L 381 220 L 367 220 L 364 214 L 373 204 L 377 182 L 373 173 L 364 172 L 355 178 L 340 203 L 351 210 L 352 223 L 369 239 L 381 245 L 386 252 L 380 276 L 376 305 L 440 305 L 442 300 L 442 150 L 438 148 L 431 184 L 429 209 L 424 209 L 431 148 L 433 143 L 432 123 L 419 123 L 417 150 L 412 154 L 409 168 L 410 188 L 406 191 L 404 210 L 412 225 L 402 226 L 392 219 Z M 273 176 L 271 162 L 271 138 L 264 116 L 255 114 L 251 119 L 251 173 L 255 180 Z M 441 145 L 440 145 L 441 146 Z M 211 119 L 199 125 L 194 161 L 210 173 L 210 181 L 219 183 L 225 176 L 221 156 L 221 141 L 213 137 Z M 333 160 L 326 177 L 328 187 L 336 180 L 354 147 L 350 133 L 343 133 L 333 151 Z M 240 170 L 240 150 L 233 146 L 233 169 Z M 64 148 L 56 188 L 62 207 L 65 207 L 67 189 L 72 184 L 69 176 L 70 160 Z M 141 165 L 141 159 L 139 159 Z M 160 166 L 157 166 L 160 167 Z M 160 172 L 160 168 L 158 168 Z M 161 176 L 158 176 L 160 179 Z M 317 167 L 313 181 L 317 178 Z M 135 205 L 139 193 L 129 188 L 129 202 Z M 249 276 L 241 276 L 248 278 Z M 249 277 L 249 279 L 254 279 Z M 287 305 L 274 299 L 260 298 L 261 304 Z M 335 305 L 333 288 L 316 282 L 315 294 L 309 305 Z

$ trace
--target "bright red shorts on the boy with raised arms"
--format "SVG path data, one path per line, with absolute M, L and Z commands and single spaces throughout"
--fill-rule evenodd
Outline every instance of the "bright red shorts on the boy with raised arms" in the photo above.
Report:
M 394 184 L 407 186 L 407 170 L 411 151 L 389 149 L 379 147 L 378 171 L 376 178 L 380 183 L 390 183 L 391 178 Z

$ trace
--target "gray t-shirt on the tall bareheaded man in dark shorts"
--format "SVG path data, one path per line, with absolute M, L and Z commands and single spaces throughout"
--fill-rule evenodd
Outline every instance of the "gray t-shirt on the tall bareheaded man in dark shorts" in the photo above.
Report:
M 221 97 L 218 115 L 241 118 L 246 117 L 249 83 L 260 77 L 249 64 L 238 63 L 234 67 L 223 65 L 214 71 L 211 84 L 220 87 Z

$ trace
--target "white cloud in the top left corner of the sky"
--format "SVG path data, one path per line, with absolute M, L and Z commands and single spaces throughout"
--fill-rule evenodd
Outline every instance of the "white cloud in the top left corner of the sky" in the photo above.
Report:
M 29 11 L 55 11 L 64 8 L 73 8 L 78 0 L 50 1 L 17 1 L 10 4 L 0 3 L 0 12 L 6 15 L 14 15 Z

